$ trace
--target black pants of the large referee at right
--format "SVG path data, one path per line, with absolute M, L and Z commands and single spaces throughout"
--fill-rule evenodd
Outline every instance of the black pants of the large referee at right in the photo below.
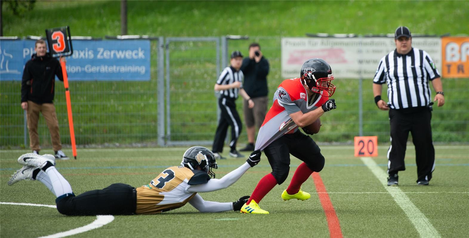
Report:
M 390 175 L 406 169 L 404 157 L 409 131 L 415 145 L 417 181 L 431 180 L 435 169 L 435 149 L 431 139 L 431 111 L 427 107 L 389 109 L 391 146 L 387 172 Z

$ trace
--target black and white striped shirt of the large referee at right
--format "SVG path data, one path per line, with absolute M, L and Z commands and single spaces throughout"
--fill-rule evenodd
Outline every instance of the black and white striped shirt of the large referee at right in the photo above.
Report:
M 405 55 L 393 50 L 381 58 L 373 83 L 386 82 L 391 108 L 414 108 L 431 102 L 428 82 L 439 77 L 430 55 L 425 50 L 412 48 Z

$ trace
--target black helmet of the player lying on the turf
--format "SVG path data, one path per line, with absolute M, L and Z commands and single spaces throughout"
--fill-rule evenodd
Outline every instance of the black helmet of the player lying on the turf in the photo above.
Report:
M 208 173 L 212 178 L 215 178 L 212 169 L 218 168 L 213 152 L 202 146 L 193 146 L 187 149 L 182 155 L 181 165 L 192 170 L 199 166 L 199 170 Z

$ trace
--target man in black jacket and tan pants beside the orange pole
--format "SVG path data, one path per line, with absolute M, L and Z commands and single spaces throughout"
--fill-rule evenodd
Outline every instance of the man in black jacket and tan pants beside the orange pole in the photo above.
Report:
M 53 104 L 55 75 L 63 81 L 62 67 L 56 58 L 47 53 L 44 40 L 37 40 L 34 50 L 36 53 L 24 66 L 21 82 L 21 108 L 26 110 L 30 148 L 37 154 L 41 150 L 38 136 L 39 112 L 41 112 L 51 133 L 55 158 L 68 159 L 61 150 L 59 122 Z

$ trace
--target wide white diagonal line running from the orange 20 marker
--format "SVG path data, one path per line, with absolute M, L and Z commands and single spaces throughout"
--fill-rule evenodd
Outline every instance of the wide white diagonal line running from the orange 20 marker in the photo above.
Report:
M 410 201 L 407 195 L 397 186 L 387 186 L 387 174 L 376 162 L 369 157 L 360 158 L 363 163 L 371 170 L 371 172 L 383 184 L 383 187 L 393 197 L 394 201 L 401 207 L 404 213 L 422 238 L 440 238 L 440 234 L 430 223 L 428 218 Z

